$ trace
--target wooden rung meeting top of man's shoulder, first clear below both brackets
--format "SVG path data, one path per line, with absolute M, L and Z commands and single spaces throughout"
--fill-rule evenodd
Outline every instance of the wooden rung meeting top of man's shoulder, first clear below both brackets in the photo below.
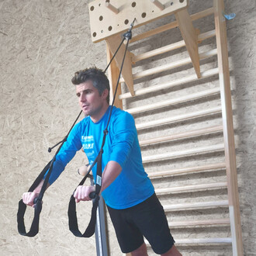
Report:
M 155 109 L 161 109 L 161 108 L 168 107 L 168 106 L 173 106 L 176 104 L 180 104 L 182 102 L 189 102 L 189 101 L 193 101 L 195 99 L 209 97 L 211 95 L 216 95 L 218 93 L 220 93 L 219 87 L 212 88 L 212 89 L 201 91 L 201 92 L 195 92 L 195 93 L 192 93 L 189 95 L 184 95 L 182 97 L 178 97 L 175 99 L 168 99 L 168 100 L 160 101 L 160 102 L 158 101 L 158 102 L 154 102 L 152 104 L 138 106 L 133 109 L 126 109 L 126 112 L 130 112 L 130 114 L 137 114 L 137 113 L 144 112 L 144 111 L 150 111 L 150 110 L 155 110 Z

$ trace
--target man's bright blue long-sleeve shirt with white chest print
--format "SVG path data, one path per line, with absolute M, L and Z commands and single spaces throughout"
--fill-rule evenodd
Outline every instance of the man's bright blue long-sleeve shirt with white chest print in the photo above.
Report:
M 57 154 L 49 179 L 50 184 L 61 175 L 66 164 L 81 147 L 88 157 L 89 164 L 95 161 L 102 146 L 103 130 L 106 129 L 109 111 L 110 107 L 97 123 L 93 123 L 90 117 L 86 117 L 74 126 Z M 109 161 L 120 164 L 122 171 L 102 192 L 102 197 L 108 206 L 114 209 L 126 209 L 153 195 L 154 187 L 144 171 L 133 116 L 114 107 L 108 130 L 103 147 L 102 171 Z M 95 178 L 96 166 L 92 168 L 92 173 Z

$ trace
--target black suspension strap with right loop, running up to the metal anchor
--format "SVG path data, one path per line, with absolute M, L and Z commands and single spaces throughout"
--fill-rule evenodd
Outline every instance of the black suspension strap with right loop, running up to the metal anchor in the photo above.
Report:
M 97 208 L 99 206 L 99 199 L 100 199 L 99 193 L 100 193 L 100 190 L 102 188 L 102 154 L 103 154 L 103 147 L 105 145 L 106 135 L 108 134 L 108 126 L 109 126 L 109 122 L 110 122 L 110 117 L 112 115 L 112 108 L 114 106 L 114 102 L 115 102 L 115 99 L 116 99 L 116 92 L 117 92 L 117 88 L 118 88 L 118 85 L 119 85 L 119 79 L 120 79 L 120 76 L 121 76 L 121 73 L 122 73 L 122 70 L 123 70 L 124 60 L 126 58 L 126 51 L 127 51 L 127 48 L 128 48 L 129 40 L 132 37 L 132 31 L 131 30 L 133 28 L 134 21 L 135 21 L 135 19 L 133 20 L 132 24 L 130 25 L 130 29 L 126 33 L 123 34 L 123 40 L 122 40 L 122 42 L 120 43 L 119 47 L 116 50 L 116 53 L 117 53 L 117 51 L 121 47 L 123 41 L 126 39 L 127 40 L 126 50 L 125 50 L 124 55 L 123 55 L 123 61 L 122 61 L 120 71 L 119 71 L 119 78 L 118 78 L 117 83 L 116 83 L 116 91 L 115 91 L 115 94 L 113 96 L 112 106 L 111 106 L 111 109 L 110 109 L 110 112 L 109 112 L 109 119 L 108 119 L 108 122 L 107 122 L 107 125 L 106 125 L 106 129 L 104 130 L 104 136 L 103 136 L 103 140 L 102 140 L 102 147 L 99 150 L 99 154 L 96 157 L 95 161 L 91 165 L 91 168 L 89 168 L 87 174 L 85 175 L 85 177 L 82 179 L 82 181 L 79 184 L 79 185 L 84 184 L 85 179 L 88 177 L 89 172 L 92 170 L 95 163 L 97 163 L 95 192 L 90 194 L 90 197 L 93 199 L 91 220 L 88 223 L 88 227 L 86 228 L 84 234 L 81 234 L 80 230 L 78 229 L 78 218 L 77 218 L 77 213 L 76 213 L 76 204 L 75 204 L 75 200 L 74 200 L 74 194 L 71 195 L 71 199 L 70 199 L 70 202 L 69 202 L 68 211 L 67 211 L 69 230 L 71 230 L 71 232 L 76 237 L 92 237 L 92 235 L 95 233 Z M 113 55 L 113 57 L 116 55 L 116 53 Z M 113 60 L 113 57 L 112 57 L 112 60 Z M 109 67 L 109 64 L 108 64 L 107 67 Z M 107 69 L 107 67 L 106 67 L 106 69 Z

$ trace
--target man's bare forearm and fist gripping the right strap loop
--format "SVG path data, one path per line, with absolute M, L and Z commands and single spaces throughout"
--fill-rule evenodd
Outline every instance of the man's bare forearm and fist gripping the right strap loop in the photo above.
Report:
M 106 189 L 120 174 L 122 167 L 116 161 L 109 161 L 102 174 L 102 189 L 101 192 Z M 91 192 L 95 192 L 95 186 L 80 185 L 74 192 L 74 198 L 76 202 L 89 201 Z

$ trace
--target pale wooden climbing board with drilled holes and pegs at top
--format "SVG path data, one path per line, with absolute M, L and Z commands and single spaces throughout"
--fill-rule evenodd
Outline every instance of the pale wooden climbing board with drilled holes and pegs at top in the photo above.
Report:
M 134 19 L 134 27 L 141 26 L 182 10 L 187 5 L 187 0 L 95 0 L 88 5 L 92 42 L 126 31 Z

